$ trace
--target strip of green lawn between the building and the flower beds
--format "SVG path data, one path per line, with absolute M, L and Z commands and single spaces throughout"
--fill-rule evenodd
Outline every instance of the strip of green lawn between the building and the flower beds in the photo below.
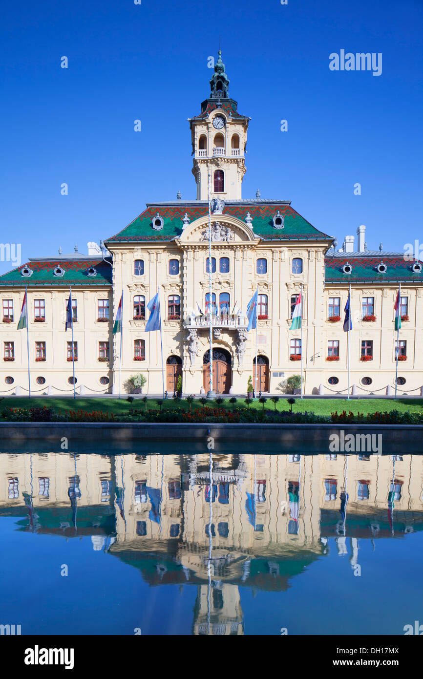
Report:
M 288 410 L 290 409 L 289 403 L 287 403 L 287 397 L 280 397 L 276 409 L 277 410 Z M 91 412 L 93 410 L 101 410 L 103 412 L 109 412 L 114 415 L 128 414 L 130 411 L 130 404 L 126 401 L 126 397 L 122 399 L 101 399 L 92 398 L 84 399 L 84 397 L 72 398 L 32 398 L 28 397 L 17 397 L 17 398 L 3 398 L 0 399 L 0 412 L 4 407 L 11 408 L 29 408 L 29 407 L 43 407 L 43 406 L 53 407 L 54 411 L 58 413 L 59 410 L 62 412 L 65 410 L 84 410 Z M 214 401 L 208 402 L 207 405 L 211 407 L 217 407 Z M 134 409 L 144 409 L 145 404 L 141 399 L 134 399 L 132 403 Z M 200 401 L 196 399 L 192 404 L 193 409 L 196 407 L 202 407 Z M 232 404 L 229 403 L 228 399 L 223 401 L 223 407 L 232 409 Z M 244 399 L 237 399 L 235 404 L 236 408 L 246 408 Z M 251 408 L 261 408 L 261 403 L 258 401 L 253 401 L 250 405 Z M 155 399 L 148 399 L 147 401 L 148 409 L 158 409 L 159 406 Z M 174 399 L 168 399 L 164 401 L 162 405 L 163 409 L 189 409 L 189 404 L 185 399 L 174 401 Z M 270 399 L 265 403 L 265 409 L 270 409 L 273 411 L 274 404 Z M 345 399 L 295 399 L 293 405 L 293 412 L 299 411 L 312 411 L 316 415 L 330 415 L 331 412 L 335 410 L 342 412 L 346 410 L 347 412 L 352 410 L 354 414 L 360 413 L 373 413 L 375 411 L 390 411 L 399 410 L 400 412 L 410 412 L 410 413 L 421 413 L 423 411 L 423 399 L 350 399 L 346 401 Z

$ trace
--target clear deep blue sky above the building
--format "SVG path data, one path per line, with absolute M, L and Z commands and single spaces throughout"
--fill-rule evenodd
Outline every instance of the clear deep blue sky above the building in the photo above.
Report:
M 196 198 L 187 117 L 219 35 L 252 119 L 243 198 L 292 200 L 340 242 L 365 224 L 370 249 L 423 243 L 422 0 L 6 0 L 2 15 L 0 241 L 22 262 L 86 252 L 145 202 Z M 342 49 L 381 52 L 382 75 L 330 71 Z

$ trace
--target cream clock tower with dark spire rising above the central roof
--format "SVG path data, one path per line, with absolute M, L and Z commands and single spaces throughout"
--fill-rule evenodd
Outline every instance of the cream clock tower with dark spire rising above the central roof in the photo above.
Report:
M 249 117 L 238 113 L 238 103 L 229 98 L 229 78 L 222 53 L 210 79 L 210 96 L 201 113 L 189 118 L 197 200 L 207 200 L 208 177 L 212 198 L 240 200 L 242 178 L 246 171 L 244 153 Z

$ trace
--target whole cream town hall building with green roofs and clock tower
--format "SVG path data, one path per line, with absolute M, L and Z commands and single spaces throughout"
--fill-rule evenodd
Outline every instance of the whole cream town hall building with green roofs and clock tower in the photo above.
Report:
M 365 227 L 358 244 L 346 236 L 341 250 L 289 200 L 242 198 L 249 117 L 229 97 L 221 52 L 210 94 L 189 119 L 196 200 L 147 203 L 146 209 L 88 255 L 29 259 L 0 276 L 0 392 L 28 390 L 26 330 L 18 330 L 28 291 L 31 392 L 64 394 L 128 390 L 142 373 L 147 394 L 162 392 L 159 332 L 145 332 L 147 304 L 159 291 L 165 389 L 179 375 L 184 394 L 208 391 L 209 314 L 213 316 L 213 388 L 245 394 L 281 394 L 299 374 L 304 393 L 346 394 L 348 333 L 344 307 L 351 287 L 350 390 L 420 395 L 423 385 L 423 273 L 404 253 L 369 251 Z M 210 196 L 210 215 L 209 202 Z M 211 225 L 209 288 L 208 223 Z M 401 283 L 401 330 L 394 331 L 394 301 Z M 73 347 L 65 331 L 69 287 Z M 256 332 L 247 330 L 246 306 L 258 291 Z M 302 332 L 291 330 L 303 294 Z M 122 361 L 113 320 L 122 295 Z M 399 369 L 396 378 L 396 358 Z M 119 363 L 122 363 L 119 371 Z M 119 384 L 120 375 L 120 384 Z M 397 382 L 397 384 L 396 384 Z

